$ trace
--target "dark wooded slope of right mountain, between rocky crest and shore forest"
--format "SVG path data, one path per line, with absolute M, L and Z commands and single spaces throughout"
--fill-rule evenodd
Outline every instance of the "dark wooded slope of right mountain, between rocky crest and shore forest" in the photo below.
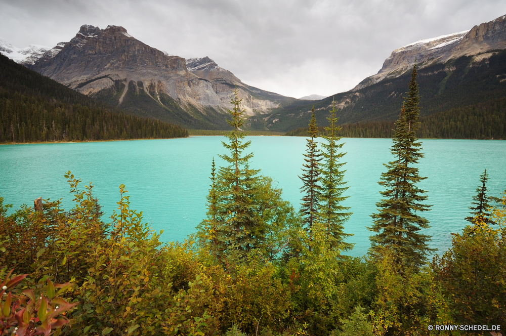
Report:
M 487 53 L 479 57 L 460 57 L 445 64 L 434 64 L 420 69 L 420 115 L 429 116 L 506 97 L 506 51 Z M 358 91 L 330 96 L 303 106 L 278 109 L 269 118 L 252 117 L 248 120 L 252 129 L 267 127 L 272 131 L 290 131 L 307 127 L 311 108 L 320 126 L 326 125 L 326 117 L 332 100 L 340 109 L 340 123 L 369 121 L 394 121 L 405 97 L 409 75 L 385 79 Z M 486 111 L 486 109 L 482 109 Z M 487 112 L 488 113 L 488 112 Z M 266 120 L 267 119 L 267 120 Z M 432 127 L 431 127 L 432 128 Z M 457 134 L 458 130 L 448 130 Z M 490 130 L 482 134 L 494 133 Z M 479 137 L 478 137 L 479 138 Z

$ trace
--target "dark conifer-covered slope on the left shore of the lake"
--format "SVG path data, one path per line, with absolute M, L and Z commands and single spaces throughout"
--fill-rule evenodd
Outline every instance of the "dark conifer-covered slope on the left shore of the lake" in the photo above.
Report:
M 83 96 L 0 55 L 0 143 L 187 137 Z

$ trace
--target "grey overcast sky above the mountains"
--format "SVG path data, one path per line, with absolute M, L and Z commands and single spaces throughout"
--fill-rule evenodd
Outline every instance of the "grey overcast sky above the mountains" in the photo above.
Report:
M 0 0 L 0 37 L 23 48 L 119 25 L 185 58 L 209 56 L 248 85 L 330 96 L 376 73 L 394 49 L 506 14 L 504 0 Z

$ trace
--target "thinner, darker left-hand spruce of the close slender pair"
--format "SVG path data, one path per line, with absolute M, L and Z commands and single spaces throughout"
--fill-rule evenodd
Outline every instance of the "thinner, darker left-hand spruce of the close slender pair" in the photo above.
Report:
M 312 109 L 311 121 L 309 122 L 309 136 L 306 139 L 306 154 L 304 155 L 303 174 L 299 178 L 303 181 L 304 185 L 301 187 L 305 193 L 302 197 L 301 214 L 305 224 L 306 230 L 309 232 L 311 238 L 311 229 L 313 222 L 318 213 L 320 204 L 321 187 L 318 184 L 320 180 L 320 161 L 323 159 L 318 144 L 315 139 L 318 137 L 318 126 L 315 119 L 315 108 Z

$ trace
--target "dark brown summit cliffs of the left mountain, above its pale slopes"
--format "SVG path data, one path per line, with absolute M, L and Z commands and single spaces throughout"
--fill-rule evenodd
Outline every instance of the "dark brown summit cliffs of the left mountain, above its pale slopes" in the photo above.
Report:
M 100 29 L 83 25 L 59 53 L 45 56 L 29 67 L 71 88 L 107 75 L 137 81 L 155 69 L 183 76 L 188 72 L 184 58 L 165 56 L 118 26 Z

